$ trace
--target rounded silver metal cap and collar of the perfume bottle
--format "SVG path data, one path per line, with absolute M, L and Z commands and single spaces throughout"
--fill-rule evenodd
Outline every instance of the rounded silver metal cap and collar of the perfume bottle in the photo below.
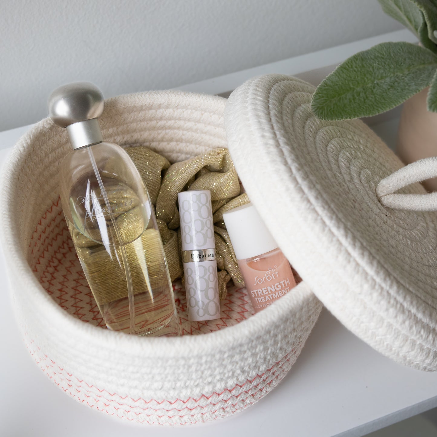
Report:
M 92 83 L 75 82 L 63 85 L 50 94 L 50 118 L 67 128 L 73 149 L 103 141 L 97 118 L 104 108 L 101 91 Z

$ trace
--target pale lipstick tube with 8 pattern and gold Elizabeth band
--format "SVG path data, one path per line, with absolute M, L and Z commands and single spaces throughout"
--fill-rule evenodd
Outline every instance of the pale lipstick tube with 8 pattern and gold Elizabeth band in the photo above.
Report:
M 178 194 L 188 320 L 220 318 L 211 192 Z

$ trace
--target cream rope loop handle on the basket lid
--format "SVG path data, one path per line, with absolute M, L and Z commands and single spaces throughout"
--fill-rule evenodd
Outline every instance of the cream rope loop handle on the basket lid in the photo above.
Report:
M 376 187 L 383 206 L 410 211 L 437 211 L 437 192 L 428 194 L 399 194 L 400 188 L 437 177 L 437 156 L 418 160 L 385 177 Z

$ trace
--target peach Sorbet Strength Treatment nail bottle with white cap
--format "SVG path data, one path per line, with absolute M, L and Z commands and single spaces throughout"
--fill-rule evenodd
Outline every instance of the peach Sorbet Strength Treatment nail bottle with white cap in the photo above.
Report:
M 290 264 L 251 203 L 225 212 L 223 220 L 253 309 L 259 312 L 295 287 Z

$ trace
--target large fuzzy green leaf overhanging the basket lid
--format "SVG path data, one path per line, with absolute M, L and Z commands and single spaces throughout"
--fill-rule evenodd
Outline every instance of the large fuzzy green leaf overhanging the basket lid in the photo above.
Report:
M 340 64 L 317 87 L 312 110 L 322 120 L 369 117 L 427 87 L 437 56 L 408 42 L 383 42 Z

